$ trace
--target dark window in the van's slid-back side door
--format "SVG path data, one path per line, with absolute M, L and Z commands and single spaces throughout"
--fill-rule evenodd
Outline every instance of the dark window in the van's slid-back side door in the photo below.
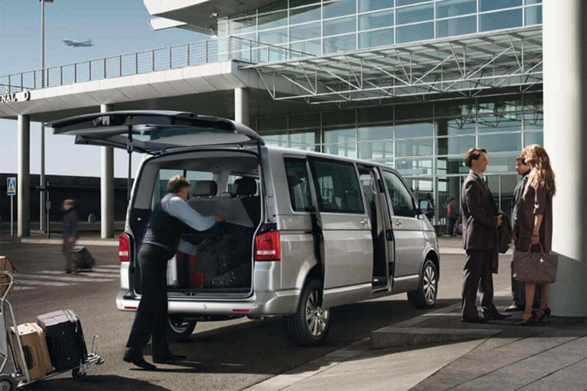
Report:
M 322 212 L 365 213 L 355 165 L 316 160 L 318 203 Z

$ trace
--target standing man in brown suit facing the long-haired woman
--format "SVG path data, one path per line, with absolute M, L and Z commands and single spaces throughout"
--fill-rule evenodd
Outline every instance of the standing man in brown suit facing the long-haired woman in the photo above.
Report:
M 493 277 L 491 263 L 496 255 L 497 227 L 501 225 L 495 200 L 483 181 L 483 173 L 489 161 L 484 148 L 471 148 L 465 155 L 465 164 L 470 169 L 461 191 L 461 215 L 463 216 L 463 244 L 467 252 L 464 267 L 462 293 L 463 322 L 484 322 L 503 319 L 510 315 L 497 312 L 493 304 Z M 495 240 L 494 240 L 495 238 Z M 481 284 L 481 307 L 479 317 L 475 301 Z

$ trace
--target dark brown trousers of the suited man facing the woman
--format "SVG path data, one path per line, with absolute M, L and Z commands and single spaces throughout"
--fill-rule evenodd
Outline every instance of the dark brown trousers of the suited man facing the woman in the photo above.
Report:
M 481 290 L 481 307 L 483 314 L 493 314 L 497 308 L 493 304 L 493 276 L 491 261 L 493 250 L 467 250 L 467 261 L 464 267 L 462 291 L 463 319 L 477 319 L 479 313 L 475 307 L 477 290 Z

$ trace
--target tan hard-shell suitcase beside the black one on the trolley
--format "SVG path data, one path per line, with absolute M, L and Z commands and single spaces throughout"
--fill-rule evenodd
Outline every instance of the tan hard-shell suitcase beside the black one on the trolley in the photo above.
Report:
M 23 323 L 18 325 L 17 328 L 18 334 L 21 336 L 22 350 L 25 352 L 26 368 L 29 369 L 31 380 L 48 375 L 52 372 L 53 366 L 49 358 L 49 349 L 47 349 L 47 341 L 43 329 L 36 323 Z M 18 365 L 21 367 L 22 374 L 24 375 L 25 369 L 22 366 L 22 357 L 18 349 L 14 327 L 9 328 L 9 331 Z

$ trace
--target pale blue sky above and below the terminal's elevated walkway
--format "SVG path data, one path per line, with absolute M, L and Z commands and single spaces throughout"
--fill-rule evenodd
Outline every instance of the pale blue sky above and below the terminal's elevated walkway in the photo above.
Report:
M 152 31 L 141 0 L 55 0 L 45 4 L 45 67 L 133 53 L 209 38 L 183 29 Z M 70 47 L 63 39 L 92 39 Z M 41 68 L 41 3 L 0 0 L 0 76 Z M 31 122 L 31 174 L 41 169 L 41 124 Z M 0 173 L 16 172 L 16 120 L 0 119 Z M 100 176 L 100 147 L 73 144 L 73 136 L 45 136 L 45 173 Z M 133 175 L 140 155 L 133 154 Z M 114 176 L 126 178 L 128 157 L 114 151 Z

